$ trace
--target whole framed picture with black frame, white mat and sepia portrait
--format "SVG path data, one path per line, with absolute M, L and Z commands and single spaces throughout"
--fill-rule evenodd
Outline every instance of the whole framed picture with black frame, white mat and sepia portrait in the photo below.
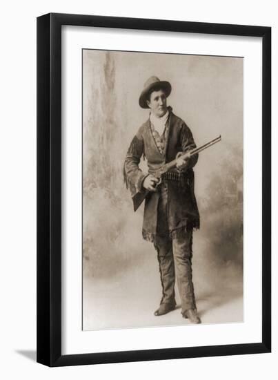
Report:
M 271 29 L 37 19 L 37 361 L 271 350 Z

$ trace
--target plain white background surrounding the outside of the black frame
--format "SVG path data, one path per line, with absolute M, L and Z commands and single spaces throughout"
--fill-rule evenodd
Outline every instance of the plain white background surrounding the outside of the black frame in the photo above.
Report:
M 277 373 L 277 274 L 273 271 L 273 352 L 272 354 L 170 360 L 143 363 L 119 363 L 72 368 L 46 368 L 34 363 L 35 349 L 35 17 L 52 10 L 83 14 L 183 19 L 219 23 L 245 23 L 272 26 L 273 47 L 277 46 L 277 9 L 274 1 L 195 1 L 194 3 L 126 3 L 102 1 L 10 1 L 2 7 L 1 22 L 1 375 L 6 379 L 160 379 L 188 376 L 208 379 L 237 377 L 275 379 Z M 278 65 L 277 49 L 272 52 L 273 66 Z M 20 69 L 19 69 L 20 62 Z M 277 104 L 277 72 L 273 73 L 273 104 Z M 15 111 L 16 102 L 16 111 Z M 277 124 L 273 107 L 273 125 Z M 14 136 L 17 138 L 14 138 Z M 273 147 L 277 146 L 273 129 Z M 8 142 L 12 142 L 11 145 Z M 273 193 L 277 193 L 277 151 L 273 149 Z M 8 164 L 7 164 L 8 162 Z M 17 173 L 14 175 L 13 173 Z M 8 185 L 9 184 L 9 185 Z M 20 194 L 19 196 L 19 186 Z M 277 230 L 277 200 L 273 199 L 273 231 Z M 14 231 L 17 230 L 15 237 Z M 273 251 L 277 250 L 273 234 Z M 273 255 L 273 267 L 277 257 Z M 7 270 L 12 268 L 11 272 Z M 7 291 L 8 289 L 8 291 Z M 30 359 L 32 360 L 30 360 Z M 228 370 L 227 370 L 228 369 Z

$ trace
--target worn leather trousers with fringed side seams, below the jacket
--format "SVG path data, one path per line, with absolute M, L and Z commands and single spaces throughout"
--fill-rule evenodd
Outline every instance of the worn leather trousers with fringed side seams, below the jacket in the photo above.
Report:
M 192 283 L 192 229 L 182 237 L 169 237 L 167 222 L 167 182 L 160 186 L 158 205 L 157 239 L 155 249 L 159 260 L 162 285 L 161 303 L 175 304 L 175 278 L 181 298 L 181 312 L 196 309 L 194 286 Z

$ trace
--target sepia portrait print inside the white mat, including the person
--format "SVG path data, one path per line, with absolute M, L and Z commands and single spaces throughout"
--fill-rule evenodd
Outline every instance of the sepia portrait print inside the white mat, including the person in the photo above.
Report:
M 244 321 L 244 58 L 82 50 L 82 329 Z

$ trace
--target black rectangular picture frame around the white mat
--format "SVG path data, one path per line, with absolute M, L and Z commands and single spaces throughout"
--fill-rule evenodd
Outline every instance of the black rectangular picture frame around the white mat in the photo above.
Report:
M 262 37 L 262 339 L 257 343 L 61 354 L 61 26 Z M 271 28 L 54 14 L 37 18 L 37 361 L 49 366 L 150 361 L 271 350 Z

